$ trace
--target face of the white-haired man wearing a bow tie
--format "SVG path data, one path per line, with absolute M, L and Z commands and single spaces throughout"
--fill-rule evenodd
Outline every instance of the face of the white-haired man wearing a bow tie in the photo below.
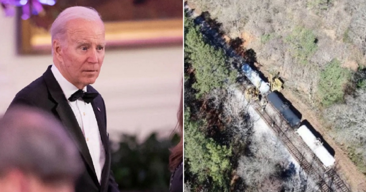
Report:
M 58 68 L 70 83 L 82 89 L 93 84 L 99 75 L 104 60 L 104 25 L 100 21 L 75 19 L 66 27 Z

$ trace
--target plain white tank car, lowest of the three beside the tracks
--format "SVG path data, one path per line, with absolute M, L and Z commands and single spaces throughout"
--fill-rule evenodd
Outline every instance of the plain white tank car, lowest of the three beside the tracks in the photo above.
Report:
M 306 145 L 314 152 L 325 167 L 332 166 L 336 161 L 323 144 L 314 136 L 314 134 L 306 127 L 300 126 L 296 131 L 304 140 Z

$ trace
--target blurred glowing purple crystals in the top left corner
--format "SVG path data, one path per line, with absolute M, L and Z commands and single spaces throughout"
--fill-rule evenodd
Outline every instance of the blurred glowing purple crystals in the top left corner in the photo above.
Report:
M 38 15 L 43 11 L 43 5 L 55 5 L 56 0 L 0 0 L 6 16 L 15 14 L 15 7 L 22 7 L 22 19 L 29 19 L 31 15 Z

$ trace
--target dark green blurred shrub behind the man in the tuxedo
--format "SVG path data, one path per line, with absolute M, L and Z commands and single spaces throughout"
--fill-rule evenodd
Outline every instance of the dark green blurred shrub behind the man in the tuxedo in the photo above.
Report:
M 169 190 L 169 148 L 179 142 L 157 139 L 156 133 L 140 143 L 134 135 L 122 135 L 121 141 L 113 143 L 118 150 L 112 153 L 111 169 L 120 190 L 160 192 Z

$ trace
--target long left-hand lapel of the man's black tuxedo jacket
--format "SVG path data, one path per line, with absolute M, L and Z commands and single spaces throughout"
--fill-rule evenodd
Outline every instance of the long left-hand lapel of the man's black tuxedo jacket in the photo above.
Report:
M 66 97 L 55 79 L 55 76 L 53 76 L 51 71 L 51 66 L 48 67 L 46 72 L 43 74 L 43 77 L 45 79 L 46 85 L 48 87 L 49 93 L 51 97 L 55 100 L 56 104 L 56 112 L 60 117 L 61 122 L 63 123 L 66 131 L 69 133 L 71 138 L 74 140 L 76 146 L 78 147 L 82 158 L 88 165 L 88 167 L 93 171 L 93 180 L 94 182 L 98 183 L 98 178 L 95 173 L 95 169 L 93 166 L 93 161 L 90 156 L 89 148 L 85 142 L 85 138 L 83 135 L 83 132 L 81 131 L 81 128 L 79 127 L 78 121 L 76 120 L 75 114 L 72 111 L 70 105 L 68 104 Z M 99 125 L 99 122 L 98 122 Z M 88 171 L 89 172 L 89 171 Z

